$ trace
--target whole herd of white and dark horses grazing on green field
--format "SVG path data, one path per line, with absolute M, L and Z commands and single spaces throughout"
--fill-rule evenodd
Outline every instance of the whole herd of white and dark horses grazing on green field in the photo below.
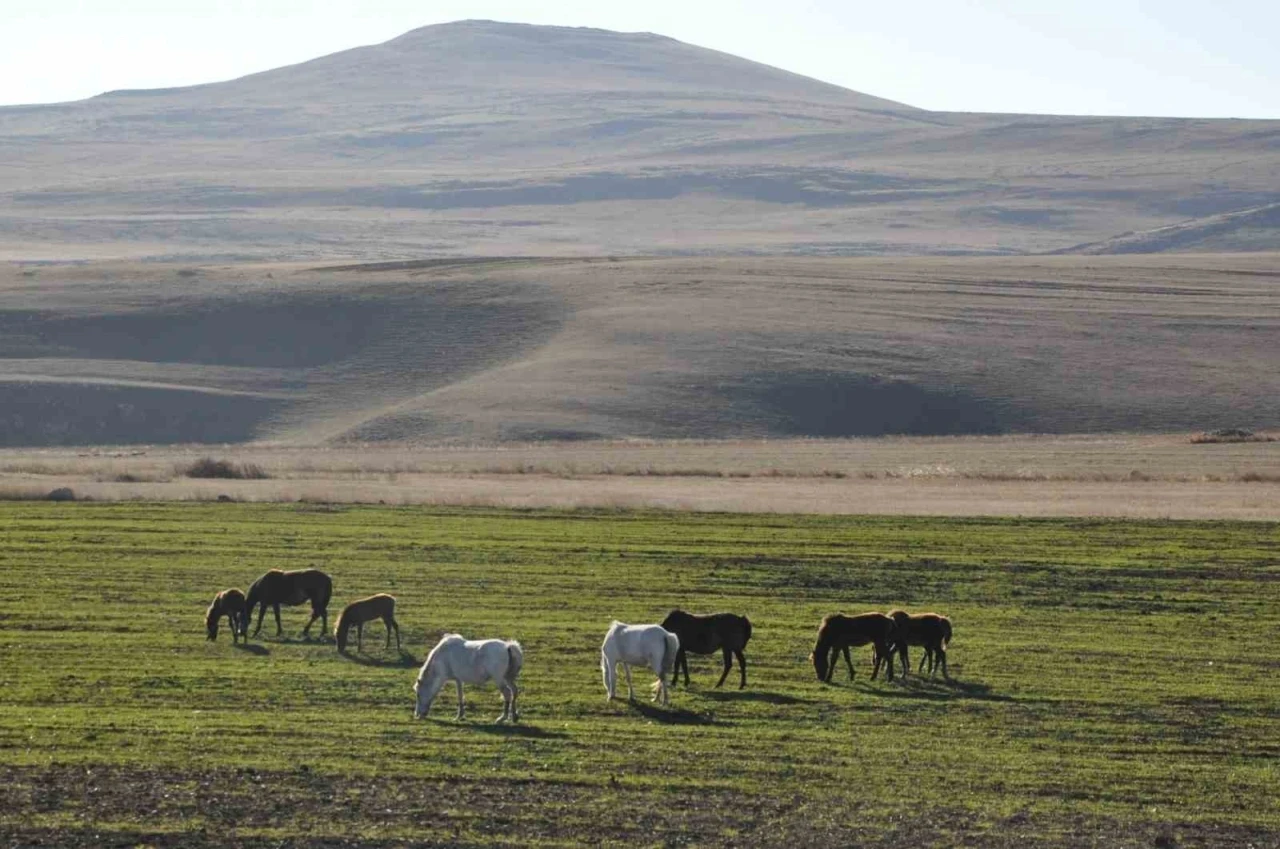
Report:
M 209 639 L 218 639 L 219 624 L 228 621 L 232 642 L 248 642 L 248 625 L 257 610 L 257 626 L 253 636 L 262 630 L 262 619 L 270 607 L 275 613 L 275 634 L 284 633 L 280 625 L 280 606 L 311 604 L 311 619 L 302 629 L 303 636 L 310 636 L 311 626 L 320 620 L 321 633 L 329 630 L 329 601 L 333 598 L 333 580 L 319 569 L 280 571 L 273 569 L 259 578 L 248 588 L 248 593 L 227 589 L 214 597 L 205 615 Z M 356 649 L 362 651 L 364 626 L 366 622 L 381 620 L 387 630 L 387 648 L 392 644 L 392 631 L 396 633 L 396 648 L 401 647 L 399 624 L 396 621 L 396 598 L 387 593 L 361 598 L 347 604 L 334 625 L 334 642 L 338 652 L 346 653 L 351 629 L 356 629 Z M 737 659 L 739 689 L 746 686 L 746 657 L 744 651 L 751 639 L 751 621 L 737 613 L 712 613 L 696 616 L 681 610 L 673 610 L 660 624 L 627 625 L 614 620 L 600 645 L 600 672 L 604 676 L 604 690 L 608 699 L 616 698 L 621 663 L 627 681 L 627 697 L 635 700 L 631 684 L 631 667 L 649 668 L 657 676 L 653 685 L 654 700 L 663 706 L 669 703 L 667 679 L 671 686 L 680 680 L 680 670 L 685 670 L 685 686 L 689 686 L 689 658 L 686 654 L 714 654 L 721 652 L 724 668 L 716 686 L 724 684 Z M 893 680 L 893 656 L 902 666 L 902 675 L 910 668 L 908 649 L 911 645 L 923 651 L 916 674 L 928 666 L 929 675 L 942 670 L 947 672 L 947 644 L 951 642 L 951 620 L 938 613 L 908 613 L 893 610 L 888 613 L 860 613 L 844 616 L 832 613 L 823 617 L 818 626 L 818 640 L 809 654 L 819 681 L 829 683 L 840 657 L 844 656 L 849 667 L 849 680 L 854 680 L 854 661 L 850 649 L 870 645 L 872 679 L 884 668 L 888 680 Z M 520 713 L 516 699 L 520 688 L 516 679 L 524 667 L 525 656 L 520 643 L 515 640 L 486 639 L 468 640 L 458 634 L 445 634 L 435 644 L 422 663 L 413 681 L 417 707 L 413 716 L 421 718 L 431 709 L 431 703 L 448 681 L 457 684 L 458 712 L 463 718 L 463 684 L 484 684 L 493 681 L 502 693 L 503 711 L 498 722 L 516 722 Z

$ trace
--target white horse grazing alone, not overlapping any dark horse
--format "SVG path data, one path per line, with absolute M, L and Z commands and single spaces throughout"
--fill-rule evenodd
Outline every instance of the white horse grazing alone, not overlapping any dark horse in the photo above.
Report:
M 516 711 L 516 676 L 525 665 L 525 653 L 516 640 L 466 640 L 457 634 L 445 634 L 431 653 L 426 656 L 413 691 L 417 693 L 417 709 L 413 718 L 421 720 L 431 709 L 431 702 L 440 693 L 444 683 L 453 680 L 458 685 L 458 715 L 466 713 L 462 702 L 462 684 L 484 684 L 493 681 L 502 690 L 502 716 L 498 722 L 520 720 Z

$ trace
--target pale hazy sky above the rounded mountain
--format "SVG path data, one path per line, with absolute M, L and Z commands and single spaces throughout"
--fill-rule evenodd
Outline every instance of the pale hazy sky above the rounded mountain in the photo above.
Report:
M 658 32 L 925 109 L 1280 118 L 1280 0 L 0 0 L 0 104 L 229 79 L 462 18 Z

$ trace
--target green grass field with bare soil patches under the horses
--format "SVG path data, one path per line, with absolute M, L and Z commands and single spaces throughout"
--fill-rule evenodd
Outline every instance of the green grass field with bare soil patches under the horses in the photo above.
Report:
M 206 642 L 308 565 L 404 653 Z M 750 616 L 748 689 L 607 703 L 609 621 L 675 606 Z M 819 684 L 820 617 L 890 607 L 954 681 Z M 520 726 L 412 720 L 445 630 L 521 640 Z M 1276 524 L 0 503 L 0 843 L 1275 846 L 1277 636 Z

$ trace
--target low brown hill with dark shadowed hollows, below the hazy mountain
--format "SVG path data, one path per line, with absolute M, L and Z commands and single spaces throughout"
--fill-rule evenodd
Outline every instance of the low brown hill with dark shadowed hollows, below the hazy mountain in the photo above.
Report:
M 0 444 L 1275 426 L 1275 255 L 0 274 Z

